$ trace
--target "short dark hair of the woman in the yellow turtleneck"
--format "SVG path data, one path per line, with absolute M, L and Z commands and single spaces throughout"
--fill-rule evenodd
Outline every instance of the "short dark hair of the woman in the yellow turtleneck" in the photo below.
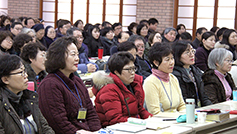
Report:
M 157 69 L 157 66 L 153 62 L 157 61 L 159 64 L 161 64 L 162 58 L 172 53 L 173 51 L 168 43 L 156 42 L 149 50 L 148 59 L 152 64 L 152 67 Z

